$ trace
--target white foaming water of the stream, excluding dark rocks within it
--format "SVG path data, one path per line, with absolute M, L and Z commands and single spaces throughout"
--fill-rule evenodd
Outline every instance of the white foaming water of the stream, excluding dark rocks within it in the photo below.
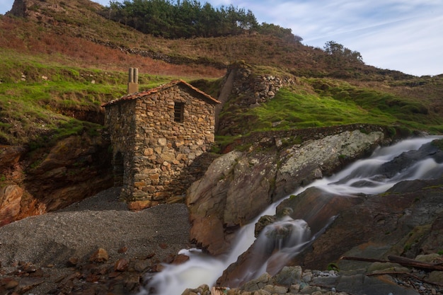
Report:
M 436 178 L 443 174 L 443 163 L 436 163 L 431 158 L 416 161 L 412 166 L 398 171 L 398 173 L 392 177 L 386 177 L 379 173 L 374 174 L 384 163 L 393 160 L 393 158 L 403 152 L 417 150 L 420 146 L 435 138 L 437 137 L 408 139 L 393 146 L 379 148 L 374 151 L 371 157 L 352 163 L 352 165 L 330 178 L 316 180 L 311 183 L 311 185 L 301 187 L 291 195 L 298 195 L 308 187 L 319 187 L 335 195 L 355 195 L 358 193 L 375 195 L 389 190 L 393 185 L 403 180 Z M 274 215 L 275 208 L 281 201 L 282 200 L 272 204 L 262 214 L 257 216 L 251 224 L 243 226 L 243 228 L 238 231 L 236 241 L 233 243 L 234 246 L 226 257 L 213 258 L 196 249 L 181 250 L 180 253 L 190 256 L 190 260 L 181 265 L 165 265 L 162 272 L 151 277 L 146 289 L 142 291 L 140 295 L 150 294 L 150 289 L 156 290 L 155 293 L 152 294 L 182 294 L 187 288 L 197 288 L 202 284 L 209 286 L 214 285 L 226 267 L 236 262 L 238 256 L 248 250 L 255 241 L 255 223 L 260 216 Z M 255 266 L 255 269 L 251 270 L 249 274 L 246 274 L 248 279 L 254 279 L 260 276 L 260 274 L 263 274 L 268 265 L 272 263 L 272 260 L 282 260 L 282 258 L 284 260 L 286 257 L 287 259 L 291 258 L 291 256 L 293 257 L 294 253 L 298 253 L 304 245 L 311 243 L 316 238 L 316 236 L 311 236 L 309 226 L 305 221 L 285 219 L 279 222 L 280 223 L 274 224 L 273 226 L 277 228 L 289 226 L 291 228 L 290 231 L 292 234 L 289 236 L 289 241 L 284 241 L 284 247 L 280 247 L 280 251 L 273 253 L 265 264 L 259 267 Z M 268 230 L 270 229 L 264 230 L 259 239 L 266 236 Z M 275 243 L 275 241 L 272 241 L 272 243 Z M 263 245 L 265 245 L 265 243 L 263 243 Z

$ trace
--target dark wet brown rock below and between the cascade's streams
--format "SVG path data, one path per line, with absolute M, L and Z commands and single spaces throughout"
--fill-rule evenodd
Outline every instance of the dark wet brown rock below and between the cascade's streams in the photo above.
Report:
M 403 153 L 384 163 L 372 173 L 379 178 L 391 178 L 407 166 L 405 163 L 413 166 L 417 160 L 425 159 L 443 163 L 442 156 L 443 151 L 437 146 L 425 144 L 417 151 Z M 273 249 L 263 252 L 260 245 L 254 243 L 236 263 L 229 266 L 217 283 L 236 286 L 246 282 L 241 278 L 247 279 L 265 261 L 268 261 L 266 271 L 270 274 L 280 271 L 280 268 L 273 268 L 275 265 L 303 265 L 312 270 L 326 269 L 331 262 L 336 263 L 340 270 L 349 271 L 365 265 L 340 260 L 340 257 L 388 260 L 389 255 L 415 258 L 437 253 L 443 244 L 443 171 L 437 171 L 434 176 L 436 179 L 403 181 L 383 195 L 350 197 L 311 187 L 291 196 L 278 205 L 275 216 L 260 219 L 255 226 L 256 236 L 266 224 L 280 220 L 282 216 L 290 216 L 291 219 L 306 221 L 311 233 L 318 238 L 299 255 L 293 253 L 292 258 L 276 256 L 272 262 L 268 258 Z M 277 259 L 284 260 L 280 263 Z

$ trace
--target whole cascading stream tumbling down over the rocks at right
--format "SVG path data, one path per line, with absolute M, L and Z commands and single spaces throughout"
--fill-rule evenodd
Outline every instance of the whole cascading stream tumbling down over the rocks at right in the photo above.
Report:
M 376 195 L 403 180 L 439 178 L 443 175 L 443 158 L 437 161 L 432 158 L 435 149 L 425 148 L 424 152 L 418 152 L 422 146 L 430 146 L 430 141 L 437 138 L 442 137 L 408 139 L 393 146 L 376 149 L 371 157 L 356 161 L 330 178 L 316 180 L 292 195 L 298 195 L 308 187 L 318 187 L 334 195 Z M 275 214 L 275 208 L 280 202 L 281 200 L 272 204 L 260 216 Z M 255 223 L 260 216 L 238 231 L 231 253 L 226 257 L 213 258 L 196 249 L 182 250 L 180 253 L 188 255 L 190 260 L 182 265 L 165 265 L 162 272 L 149 278 L 149 283 L 141 294 L 181 294 L 185 289 L 201 284 L 214 285 L 226 267 L 254 243 Z M 254 243 L 255 252 L 264 255 L 265 262 L 250 265 L 241 282 L 254 279 L 270 269 L 279 270 L 283 265 L 278 262 L 287 261 L 297 255 L 321 232 L 312 236 L 306 221 L 290 219 L 288 216 L 267 226 Z

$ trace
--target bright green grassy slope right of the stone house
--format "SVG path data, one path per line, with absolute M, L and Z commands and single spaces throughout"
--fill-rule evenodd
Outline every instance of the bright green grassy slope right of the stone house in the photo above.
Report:
M 343 81 L 305 79 L 304 83 L 315 92 L 303 86 L 282 88 L 267 103 L 236 114 L 243 117 L 237 122 L 246 120 L 260 131 L 367 123 L 443 132 L 443 118 L 417 100 Z

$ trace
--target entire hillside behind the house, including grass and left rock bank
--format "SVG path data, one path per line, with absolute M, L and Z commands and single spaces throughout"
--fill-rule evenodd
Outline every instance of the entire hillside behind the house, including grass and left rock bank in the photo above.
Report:
M 131 66 L 140 89 L 180 78 L 224 102 L 214 152 L 253 132 L 308 127 L 443 133 L 442 75 L 377 69 L 271 35 L 168 40 L 105 11 L 88 0 L 16 0 L 0 16 L 0 183 L 25 189 L 14 218 L 112 185 L 100 105 L 125 94 Z

